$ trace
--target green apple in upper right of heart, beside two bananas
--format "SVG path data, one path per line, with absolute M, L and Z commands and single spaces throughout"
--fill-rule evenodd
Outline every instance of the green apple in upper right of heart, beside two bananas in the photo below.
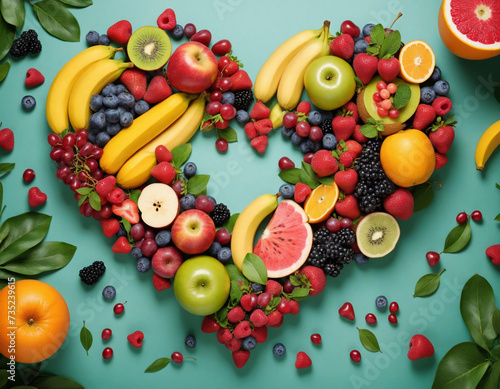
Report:
M 309 100 L 319 109 L 342 107 L 356 92 L 354 71 L 342 58 L 327 55 L 313 61 L 304 74 Z

